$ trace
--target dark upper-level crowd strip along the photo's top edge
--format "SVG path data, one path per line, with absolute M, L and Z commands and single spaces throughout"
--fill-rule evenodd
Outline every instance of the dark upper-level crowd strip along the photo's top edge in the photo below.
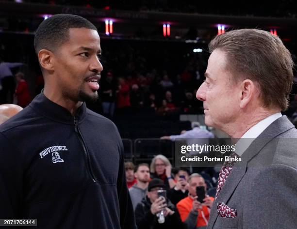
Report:
M 36 2 L 23 0 L 23 2 Z M 39 0 L 39 3 L 51 5 L 71 5 L 94 7 L 98 9 L 129 10 L 129 11 L 158 11 L 175 13 L 198 13 L 212 15 L 247 15 L 247 16 L 274 16 L 296 17 L 296 2 L 294 0 L 281 1 L 225 1 L 224 4 L 213 4 L 208 1 L 185 0 Z M 240 5 L 239 5 L 240 4 Z

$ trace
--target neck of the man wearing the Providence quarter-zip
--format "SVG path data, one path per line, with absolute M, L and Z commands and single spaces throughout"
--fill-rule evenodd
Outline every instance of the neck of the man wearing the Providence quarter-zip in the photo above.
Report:
M 75 116 L 76 110 L 82 106 L 82 102 L 74 102 L 70 99 L 65 99 L 62 95 L 51 91 L 49 87 L 44 87 L 43 94 L 52 102 L 60 105 L 61 107 L 66 108 L 72 116 Z

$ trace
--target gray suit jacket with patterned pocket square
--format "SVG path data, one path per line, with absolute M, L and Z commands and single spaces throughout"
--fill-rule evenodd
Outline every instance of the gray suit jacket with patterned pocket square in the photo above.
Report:
M 217 215 L 217 203 L 237 217 Z M 208 229 L 297 229 L 297 130 L 282 116 L 242 155 L 214 201 Z

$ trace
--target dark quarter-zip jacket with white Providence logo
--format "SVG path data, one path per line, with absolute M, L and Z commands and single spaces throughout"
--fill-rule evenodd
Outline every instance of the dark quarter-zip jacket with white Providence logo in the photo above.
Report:
M 73 117 L 41 93 L 0 125 L 0 218 L 35 218 L 38 229 L 136 229 L 123 163 L 113 122 L 85 103 Z

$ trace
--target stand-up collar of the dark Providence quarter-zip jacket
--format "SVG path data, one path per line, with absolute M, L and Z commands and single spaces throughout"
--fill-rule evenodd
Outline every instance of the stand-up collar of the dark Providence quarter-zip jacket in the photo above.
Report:
M 29 106 L 46 118 L 56 122 L 74 124 L 74 117 L 71 113 L 65 107 L 49 100 L 43 92 L 38 94 Z M 77 109 L 76 117 L 78 122 L 82 122 L 82 120 L 86 117 L 85 103 L 82 103 L 82 106 Z

